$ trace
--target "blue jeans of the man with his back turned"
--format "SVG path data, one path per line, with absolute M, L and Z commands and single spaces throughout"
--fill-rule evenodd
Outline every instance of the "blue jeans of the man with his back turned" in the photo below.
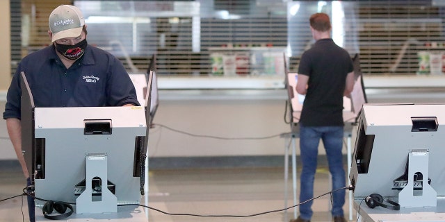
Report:
M 300 203 L 314 197 L 314 177 L 317 168 L 318 144 L 323 141 L 327 163 L 332 176 L 332 190 L 346 187 L 343 169 L 343 126 L 305 127 L 300 125 L 300 157 L 302 173 L 300 176 Z M 332 216 L 343 216 L 346 190 L 332 193 Z M 300 205 L 300 217 L 312 217 L 312 200 Z

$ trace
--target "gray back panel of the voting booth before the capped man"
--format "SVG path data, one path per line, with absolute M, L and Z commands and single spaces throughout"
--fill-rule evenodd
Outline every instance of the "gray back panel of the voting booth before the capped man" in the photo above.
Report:
M 106 121 L 110 132 L 86 133 L 88 121 Z M 145 136 L 146 128 L 143 107 L 35 108 L 35 138 L 44 144 L 39 151 L 44 178 L 35 179 L 35 196 L 76 203 L 74 187 L 85 179 L 86 157 L 99 154 L 106 155 L 108 181 L 115 185 L 118 204 L 140 203 L 133 160 L 136 138 Z

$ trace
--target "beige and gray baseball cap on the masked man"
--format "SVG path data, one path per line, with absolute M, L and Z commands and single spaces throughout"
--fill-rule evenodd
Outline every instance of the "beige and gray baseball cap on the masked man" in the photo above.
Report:
M 52 42 L 81 35 L 83 25 L 85 19 L 76 6 L 61 5 L 49 15 L 49 31 L 53 33 Z

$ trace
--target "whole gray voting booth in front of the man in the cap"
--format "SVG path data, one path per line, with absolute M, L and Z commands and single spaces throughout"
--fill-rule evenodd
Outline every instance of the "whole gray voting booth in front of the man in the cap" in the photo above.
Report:
M 149 105 L 35 108 L 23 73 L 21 84 L 22 144 L 36 221 L 147 221 L 139 204 Z M 56 205 L 67 206 L 66 212 Z

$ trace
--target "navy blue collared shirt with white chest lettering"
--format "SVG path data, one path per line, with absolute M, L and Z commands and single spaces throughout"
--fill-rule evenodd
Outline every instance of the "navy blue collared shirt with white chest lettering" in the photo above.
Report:
M 35 107 L 139 105 L 124 66 L 111 53 L 88 45 L 83 58 L 66 69 L 54 46 L 22 59 L 8 89 L 3 119 L 20 119 L 20 72 L 24 71 Z

